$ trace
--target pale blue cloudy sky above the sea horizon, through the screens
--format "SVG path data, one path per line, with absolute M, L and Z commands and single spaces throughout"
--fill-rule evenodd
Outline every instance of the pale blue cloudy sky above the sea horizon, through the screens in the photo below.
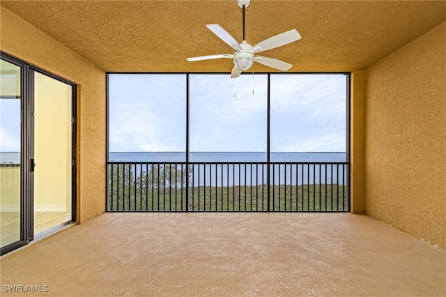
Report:
M 346 76 L 271 75 L 271 151 L 345 151 Z M 109 151 L 185 151 L 185 75 L 109 76 Z M 266 151 L 267 75 L 190 75 L 190 151 Z

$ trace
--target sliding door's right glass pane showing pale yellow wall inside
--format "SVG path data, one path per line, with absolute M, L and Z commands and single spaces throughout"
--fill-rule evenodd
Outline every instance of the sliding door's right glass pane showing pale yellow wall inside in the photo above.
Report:
M 71 220 L 72 87 L 34 75 L 34 234 Z

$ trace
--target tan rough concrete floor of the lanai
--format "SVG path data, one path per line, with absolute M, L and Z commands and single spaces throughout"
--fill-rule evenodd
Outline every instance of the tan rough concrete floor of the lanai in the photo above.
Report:
M 351 213 L 105 213 L 0 264 L 1 296 L 446 296 L 445 250 Z

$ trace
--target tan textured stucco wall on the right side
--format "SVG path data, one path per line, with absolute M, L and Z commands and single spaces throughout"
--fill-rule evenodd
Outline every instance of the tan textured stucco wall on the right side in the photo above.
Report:
M 446 22 L 366 77 L 366 213 L 446 248 Z

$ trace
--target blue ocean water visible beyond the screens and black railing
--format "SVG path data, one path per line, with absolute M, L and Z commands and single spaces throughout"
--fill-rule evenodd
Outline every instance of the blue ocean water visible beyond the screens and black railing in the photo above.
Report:
M 164 167 L 162 162 L 185 162 L 185 153 L 110 153 L 109 159 L 111 162 L 161 162 L 159 166 L 162 170 Z M 346 185 L 347 183 L 347 165 L 311 164 L 346 162 L 346 153 L 271 153 L 270 161 L 308 163 L 271 165 L 269 182 L 275 185 L 312 183 Z M 191 165 L 190 183 L 194 186 L 265 185 L 268 183 L 268 165 L 255 164 L 266 162 L 266 153 L 191 153 L 190 162 L 228 163 Z M 231 162 L 243 163 L 231 164 Z M 185 165 L 177 165 L 176 168 L 185 170 Z M 151 165 L 132 165 L 132 171 L 139 176 L 141 171 L 150 172 Z

